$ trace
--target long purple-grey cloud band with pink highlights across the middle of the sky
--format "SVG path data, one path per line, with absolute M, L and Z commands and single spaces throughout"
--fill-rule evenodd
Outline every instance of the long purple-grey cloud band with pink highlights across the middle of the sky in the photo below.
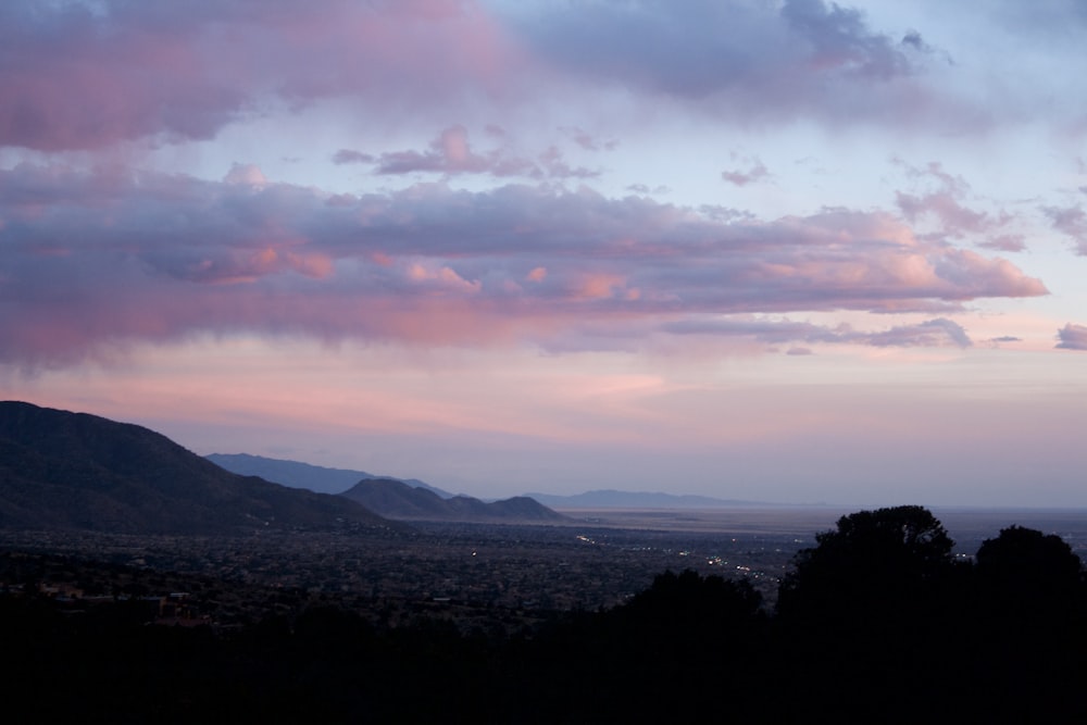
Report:
M 332 196 L 238 164 L 222 183 L 22 164 L 0 170 L 0 360 L 32 363 L 242 329 L 558 349 L 588 323 L 683 333 L 737 313 L 944 315 L 1046 293 L 885 213 L 719 220 L 586 188 Z M 782 329 L 764 338 L 969 343 L 948 320 L 866 337 Z

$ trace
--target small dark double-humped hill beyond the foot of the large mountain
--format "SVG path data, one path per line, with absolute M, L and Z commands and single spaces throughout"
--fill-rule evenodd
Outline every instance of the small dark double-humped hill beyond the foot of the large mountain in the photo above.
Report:
M 490 503 L 468 496 L 442 499 L 434 491 L 413 488 L 391 478 L 360 480 L 341 496 L 388 518 L 461 522 L 547 522 L 565 518 L 524 496 Z

